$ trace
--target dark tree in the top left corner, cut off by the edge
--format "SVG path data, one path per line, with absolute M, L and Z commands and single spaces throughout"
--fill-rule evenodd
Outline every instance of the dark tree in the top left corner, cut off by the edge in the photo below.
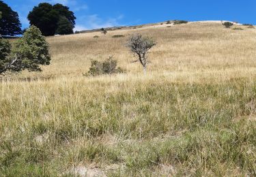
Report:
M 0 34 L 1 35 L 19 35 L 22 33 L 20 27 L 20 20 L 18 19 L 18 13 L 14 12 L 3 1 L 0 1 Z

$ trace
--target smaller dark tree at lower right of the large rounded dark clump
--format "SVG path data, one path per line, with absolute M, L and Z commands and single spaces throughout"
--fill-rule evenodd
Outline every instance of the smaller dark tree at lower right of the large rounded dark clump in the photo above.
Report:
M 59 35 L 68 35 L 73 33 L 74 26 L 65 16 L 61 16 L 59 18 L 59 22 L 57 23 L 56 34 Z

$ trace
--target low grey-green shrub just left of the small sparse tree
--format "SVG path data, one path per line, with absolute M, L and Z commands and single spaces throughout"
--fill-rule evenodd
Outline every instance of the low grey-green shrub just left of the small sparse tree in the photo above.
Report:
M 99 76 L 102 74 L 124 73 L 124 69 L 117 67 L 117 61 L 113 57 L 109 57 L 103 62 L 93 60 L 87 76 Z

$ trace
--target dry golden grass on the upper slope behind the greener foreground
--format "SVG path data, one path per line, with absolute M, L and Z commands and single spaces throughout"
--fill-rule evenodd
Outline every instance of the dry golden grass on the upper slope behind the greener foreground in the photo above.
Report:
M 40 74 L 23 76 L 58 77 L 82 76 L 87 72 L 91 59 L 103 60 L 114 56 L 119 65 L 130 74 L 140 74 L 141 66 L 131 63 L 132 54 L 126 48 L 126 39 L 133 33 L 153 37 L 158 45 L 151 51 L 149 73 L 213 71 L 254 73 L 256 37 L 255 29 L 242 27 L 243 31 L 223 28 L 221 23 L 190 23 L 188 25 L 158 25 L 140 29 L 84 33 L 48 37 L 51 44 L 52 63 Z M 100 37 L 94 39 L 94 35 Z M 112 38 L 113 35 L 126 35 Z

